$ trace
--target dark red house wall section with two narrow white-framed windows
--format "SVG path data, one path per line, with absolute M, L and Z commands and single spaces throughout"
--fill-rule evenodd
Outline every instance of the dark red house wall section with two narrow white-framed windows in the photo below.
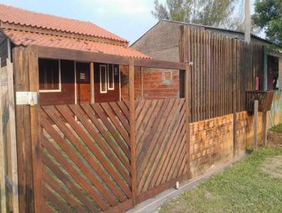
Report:
M 94 101 L 120 101 L 120 72 L 116 64 L 95 63 L 94 66 Z

